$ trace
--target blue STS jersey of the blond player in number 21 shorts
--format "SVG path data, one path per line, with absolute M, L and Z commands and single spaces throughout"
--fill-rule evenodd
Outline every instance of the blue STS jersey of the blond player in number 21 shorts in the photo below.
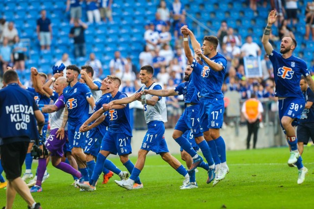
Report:
M 125 93 L 118 92 L 114 97 L 110 97 L 109 101 L 122 99 L 127 97 Z M 132 137 L 132 129 L 130 125 L 130 109 L 129 104 L 123 109 L 109 110 L 105 113 L 109 117 L 108 132 L 112 133 L 124 133 Z

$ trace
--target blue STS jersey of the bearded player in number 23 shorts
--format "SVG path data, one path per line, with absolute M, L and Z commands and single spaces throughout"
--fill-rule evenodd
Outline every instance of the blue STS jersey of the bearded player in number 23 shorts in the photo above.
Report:
M 73 87 L 70 85 L 63 90 L 64 103 L 68 109 L 68 122 L 72 126 L 82 124 L 88 119 L 89 103 L 87 98 L 92 93 L 86 84 L 77 82 Z

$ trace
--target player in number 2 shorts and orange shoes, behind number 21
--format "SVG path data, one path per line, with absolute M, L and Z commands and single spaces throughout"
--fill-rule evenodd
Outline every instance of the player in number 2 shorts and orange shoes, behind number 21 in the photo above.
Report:
M 96 101 L 93 113 L 102 109 L 103 104 L 109 103 L 111 94 L 107 93 L 107 87 L 106 87 L 107 80 L 108 80 L 108 77 L 106 77 L 101 83 L 102 86 L 100 89 L 103 92 L 103 95 L 98 101 Z M 84 128 L 84 131 L 88 131 L 86 133 L 87 142 L 86 142 L 86 147 L 85 147 L 84 152 L 86 154 L 89 180 L 91 180 L 93 170 L 95 168 L 94 158 L 97 160 L 97 155 L 100 151 L 102 139 L 104 138 L 105 133 L 108 130 L 108 125 L 109 125 L 109 117 L 106 117 L 105 115 L 101 115 L 94 123 Z M 88 158 L 88 157 L 91 157 L 91 158 Z M 110 170 L 108 170 L 107 168 Z M 126 179 L 127 177 L 129 177 L 128 172 L 126 171 L 122 172 L 119 168 L 117 168 L 117 166 L 115 166 L 108 159 L 105 160 L 105 166 L 104 166 L 103 172 L 104 172 L 103 184 L 108 183 L 109 179 L 113 176 L 113 173 L 117 174 L 122 179 Z

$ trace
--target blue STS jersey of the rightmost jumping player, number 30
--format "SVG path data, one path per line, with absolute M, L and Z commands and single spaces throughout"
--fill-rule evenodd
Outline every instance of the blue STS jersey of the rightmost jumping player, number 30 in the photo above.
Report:
M 295 56 L 285 59 L 275 50 L 268 57 L 274 67 L 275 95 L 303 98 L 300 88 L 301 75 L 308 76 L 310 74 L 304 60 Z

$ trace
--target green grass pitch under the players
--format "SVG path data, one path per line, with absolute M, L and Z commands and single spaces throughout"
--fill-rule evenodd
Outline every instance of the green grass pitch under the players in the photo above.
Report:
M 180 159 L 179 155 L 175 155 Z M 107 185 L 99 180 L 94 192 L 80 192 L 70 186 L 72 176 L 48 166 L 50 178 L 43 184 L 43 192 L 33 193 L 43 209 L 307 209 L 313 208 L 314 147 L 305 147 L 304 165 L 309 169 L 302 185 L 297 184 L 297 168 L 288 167 L 288 147 L 257 150 L 228 151 L 230 173 L 213 187 L 207 185 L 207 173 L 196 173 L 199 188 L 181 190 L 183 177 L 160 156 L 148 156 L 140 178 L 144 188 L 128 191 L 113 180 Z M 109 156 L 120 169 L 126 170 L 119 159 Z M 131 158 L 135 163 L 136 158 Z M 185 165 L 185 164 L 184 164 Z M 36 163 L 32 165 L 35 173 Z M 102 176 L 101 176 L 102 177 Z M 5 205 L 5 190 L 0 190 L 0 208 Z M 15 209 L 27 208 L 17 195 Z

